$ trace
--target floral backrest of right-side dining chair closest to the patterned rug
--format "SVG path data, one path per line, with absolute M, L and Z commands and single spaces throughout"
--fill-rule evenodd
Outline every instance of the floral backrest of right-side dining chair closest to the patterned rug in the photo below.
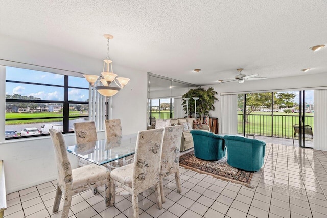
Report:
M 164 142 L 161 148 L 160 176 L 166 177 L 176 172 L 179 167 L 180 142 L 183 134 L 183 125 L 165 128 Z

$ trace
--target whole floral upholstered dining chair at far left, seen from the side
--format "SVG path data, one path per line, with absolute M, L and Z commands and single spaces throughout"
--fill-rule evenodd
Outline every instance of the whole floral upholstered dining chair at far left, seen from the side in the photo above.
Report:
M 69 208 L 71 207 L 72 196 L 85 190 L 96 188 L 101 185 L 106 185 L 105 203 L 109 206 L 110 197 L 110 171 L 104 166 L 96 164 L 86 165 L 77 169 L 71 168 L 67 156 L 67 147 L 61 132 L 49 130 L 57 162 L 58 178 L 57 192 L 53 205 L 53 212 L 59 209 L 62 192 L 64 193 L 64 205 L 62 209 L 62 218 L 68 217 Z

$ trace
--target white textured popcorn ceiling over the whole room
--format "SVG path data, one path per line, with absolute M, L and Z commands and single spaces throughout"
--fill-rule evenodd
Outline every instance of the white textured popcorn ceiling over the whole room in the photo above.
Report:
M 267 78 L 327 72 L 327 48 L 309 49 L 327 44 L 326 9 L 325 0 L 2 0 L 0 34 L 102 60 L 109 33 L 113 65 L 208 85 L 237 68 Z

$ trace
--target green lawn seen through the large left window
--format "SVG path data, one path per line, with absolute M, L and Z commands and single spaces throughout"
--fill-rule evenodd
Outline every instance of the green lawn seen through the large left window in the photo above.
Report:
M 69 117 L 87 116 L 88 113 L 79 113 L 79 111 L 69 111 Z M 11 124 L 30 124 L 30 123 L 43 123 L 43 122 L 58 122 L 62 121 L 63 113 L 55 112 L 40 112 L 40 113 L 6 113 L 6 119 L 19 119 L 19 118 L 40 118 L 33 120 L 10 120 L 6 121 L 6 125 Z M 44 117 L 54 117 L 53 119 L 42 119 Z

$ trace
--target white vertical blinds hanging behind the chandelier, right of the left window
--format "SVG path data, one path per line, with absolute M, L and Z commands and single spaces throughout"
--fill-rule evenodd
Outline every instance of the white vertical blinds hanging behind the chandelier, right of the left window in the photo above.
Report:
M 104 120 L 106 118 L 106 97 L 99 94 L 99 92 L 90 87 L 89 88 L 89 103 L 88 103 L 88 120 L 96 123 L 97 130 L 104 130 Z M 111 98 L 109 98 L 109 104 Z M 109 108 L 110 110 L 110 108 Z M 109 119 L 111 114 L 109 114 Z

